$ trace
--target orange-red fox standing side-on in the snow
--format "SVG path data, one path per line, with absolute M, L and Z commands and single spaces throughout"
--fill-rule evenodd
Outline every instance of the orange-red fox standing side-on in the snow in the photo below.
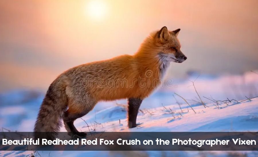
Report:
M 180 51 L 179 31 L 163 27 L 151 33 L 134 55 L 79 65 L 59 75 L 50 84 L 41 104 L 34 128 L 35 138 L 39 132 L 49 132 L 48 138 L 54 139 L 61 119 L 70 135 L 86 136 L 73 122 L 101 100 L 127 98 L 128 127 L 136 127 L 142 100 L 161 83 L 155 80 L 164 75 L 170 62 L 182 63 L 187 59 Z

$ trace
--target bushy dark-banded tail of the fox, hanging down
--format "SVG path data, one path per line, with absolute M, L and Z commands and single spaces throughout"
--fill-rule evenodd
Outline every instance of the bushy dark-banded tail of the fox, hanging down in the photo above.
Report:
M 53 140 L 58 134 L 62 126 L 62 113 L 67 109 L 67 96 L 63 85 L 54 81 L 49 86 L 34 127 L 35 139 Z

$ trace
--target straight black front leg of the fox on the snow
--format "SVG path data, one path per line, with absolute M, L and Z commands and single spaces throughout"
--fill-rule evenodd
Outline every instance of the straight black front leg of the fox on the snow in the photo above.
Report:
M 136 118 L 140 108 L 142 100 L 140 98 L 128 99 L 128 127 L 136 127 Z

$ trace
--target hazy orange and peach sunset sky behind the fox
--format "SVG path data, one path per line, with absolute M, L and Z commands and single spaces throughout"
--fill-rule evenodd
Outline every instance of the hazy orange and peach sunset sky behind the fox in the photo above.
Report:
M 181 28 L 189 70 L 258 69 L 258 1 L 0 1 L 0 91 L 42 88 L 73 66 L 134 54 L 154 30 Z

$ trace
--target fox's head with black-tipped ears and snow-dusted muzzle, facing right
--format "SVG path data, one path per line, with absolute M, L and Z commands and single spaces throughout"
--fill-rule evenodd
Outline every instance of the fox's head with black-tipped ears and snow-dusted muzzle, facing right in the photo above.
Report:
M 162 27 L 155 34 L 155 43 L 158 47 L 158 55 L 164 61 L 182 63 L 187 57 L 180 50 L 181 45 L 177 39 L 180 29 L 168 31 L 167 27 Z

